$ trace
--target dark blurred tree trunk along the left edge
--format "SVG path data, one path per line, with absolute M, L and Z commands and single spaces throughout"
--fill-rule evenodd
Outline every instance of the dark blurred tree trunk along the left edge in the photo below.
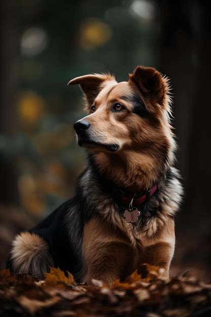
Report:
M 10 151 L 17 132 L 15 2 L 1 1 L 0 15 L 0 202 L 16 205 L 19 202 L 16 157 Z

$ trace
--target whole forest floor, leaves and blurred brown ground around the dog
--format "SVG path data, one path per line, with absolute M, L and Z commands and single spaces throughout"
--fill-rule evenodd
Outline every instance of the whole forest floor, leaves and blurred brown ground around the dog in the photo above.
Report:
M 30 273 L 5 270 L 13 237 L 35 225 L 27 214 L 0 207 L 0 315 L 8 316 L 146 316 L 209 317 L 211 315 L 210 241 L 202 234 L 177 232 L 170 280 L 148 267 L 146 279 L 137 273 L 128 281 L 107 286 L 76 285 L 53 269 L 44 281 Z

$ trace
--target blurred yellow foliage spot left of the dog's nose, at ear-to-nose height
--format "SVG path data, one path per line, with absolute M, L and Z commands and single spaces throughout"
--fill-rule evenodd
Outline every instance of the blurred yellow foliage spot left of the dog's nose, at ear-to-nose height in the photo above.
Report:
M 20 96 L 18 112 L 24 128 L 33 128 L 45 113 L 45 100 L 34 91 L 27 91 Z

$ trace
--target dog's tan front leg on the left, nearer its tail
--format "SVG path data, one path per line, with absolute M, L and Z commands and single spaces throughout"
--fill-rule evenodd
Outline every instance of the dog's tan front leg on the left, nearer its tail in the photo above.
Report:
M 133 252 L 130 241 L 125 242 L 100 220 L 93 219 L 86 225 L 83 236 L 83 255 L 87 266 L 83 280 L 91 283 L 95 279 L 107 284 L 117 279 L 124 280 L 133 271 Z

